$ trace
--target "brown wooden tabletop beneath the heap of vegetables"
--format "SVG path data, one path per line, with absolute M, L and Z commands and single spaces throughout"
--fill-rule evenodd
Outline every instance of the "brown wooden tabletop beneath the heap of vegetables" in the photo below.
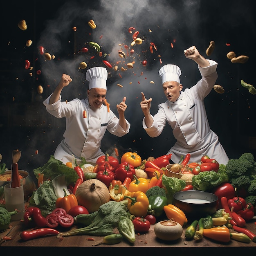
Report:
M 256 234 L 256 224 L 254 220 L 246 224 L 246 228 Z M 0 240 L 0 252 L 3 255 L 3 252 L 11 253 L 19 252 L 29 253 L 29 250 L 36 250 L 36 252 L 42 252 L 47 254 L 52 253 L 74 253 L 74 252 L 87 252 L 88 248 L 93 248 L 96 253 L 120 253 L 122 256 L 131 255 L 132 253 L 150 253 L 159 254 L 159 253 L 178 253 L 178 255 L 193 255 L 202 253 L 221 253 L 222 255 L 233 254 L 233 255 L 244 255 L 249 254 L 249 252 L 256 252 L 256 243 L 241 243 L 236 240 L 230 240 L 229 243 L 220 243 L 208 238 L 203 238 L 200 241 L 195 240 L 186 240 L 184 232 L 182 237 L 176 241 L 163 241 L 158 239 L 154 233 L 154 225 L 151 225 L 149 231 L 146 234 L 136 234 L 136 241 L 134 244 L 130 244 L 128 241 L 123 240 L 121 243 L 116 245 L 105 245 L 101 244 L 98 246 L 92 246 L 97 240 L 100 240 L 101 237 L 97 236 L 88 236 L 88 235 L 76 235 L 64 237 L 63 239 L 57 238 L 54 236 L 45 236 L 43 238 L 36 238 L 33 240 L 23 241 L 20 238 L 21 231 L 24 230 L 22 222 L 16 221 L 11 222 L 12 227 L 6 231 L 0 233 L 0 238 L 4 236 L 10 236 L 12 240 Z M 76 228 L 73 226 L 71 229 Z M 186 227 L 184 227 L 185 231 Z M 232 229 L 230 229 L 233 231 Z M 87 238 L 94 238 L 94 241 L 89 241 Z M 40 248 L 39 248 L 40 247 Z M 74 251 L 75 249 L 75 251 Z M 200 249 L 200 251 L 199 251 Z

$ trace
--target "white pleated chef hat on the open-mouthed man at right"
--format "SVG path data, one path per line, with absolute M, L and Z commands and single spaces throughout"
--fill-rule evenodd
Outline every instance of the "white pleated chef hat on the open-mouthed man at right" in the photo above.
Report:
M 166 81 L 176 81 L 180 83 L 181 70 L 178 66 L 173 64 L 167 64 L 160 68 L 158 72 L 162 78 L 162 84 Z

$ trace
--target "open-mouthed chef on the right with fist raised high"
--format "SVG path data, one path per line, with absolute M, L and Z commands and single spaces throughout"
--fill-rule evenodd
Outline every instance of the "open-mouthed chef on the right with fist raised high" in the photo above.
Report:
M 204 98 L 211 92 L 217 79 L 217 63 L 205 59 L 195 46 L 184 50 L 184 55 L 198 65 L 202 79 L 184 91 L 180 83 L 180 67 L 166 64 L 159 70 L 162 88 L 167 101 L 159 104 L 157 113 L 150 114 L 150 100 L 143 93 L 140 103 L 144 113 L 142 126 L 150 137 L 159 136 L 166 123 L 173 129 L 177 142 L 166 153 L 172 154 L 174 163 L 180 156 L 190 153 L 190 162 L 200 162 L 203 155 L 216 159 L 220 164 L 229 160 L 219 142 L 218 136 L 210 129 L 204 106 Z M 148 102 L 149 101 L 149 102 Z

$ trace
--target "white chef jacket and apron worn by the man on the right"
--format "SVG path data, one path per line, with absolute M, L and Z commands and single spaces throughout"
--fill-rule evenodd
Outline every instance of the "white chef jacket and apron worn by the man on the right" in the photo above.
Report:
M 142 126 L 150 137 L 161 134 L 166 122 L 173 129 L 177 142 L 168 151 L 171 159 L 177 163 L 181 155 L 191 154 L 189 162 L 200 162 L 203 155 L 216 159 L 220 164 L 227 164 L 229 158 L 218 136 L 210 129 L 204 106 L 204 98 L 211 92 L 218 77 L 215 61 L 208 60 L 210 66 L 199 67 L 202 79 L 191 88 L 182 91 L 175 102 L 159 104 L 153 118 L 153 124 L 147 128 L 145 118 Z

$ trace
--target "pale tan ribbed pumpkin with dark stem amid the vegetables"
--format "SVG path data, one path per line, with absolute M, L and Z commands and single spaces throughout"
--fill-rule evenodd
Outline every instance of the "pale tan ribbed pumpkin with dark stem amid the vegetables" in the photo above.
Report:
M 85 180 L 76 189 L 75 195 L 78 204 L 85 207 L 89 213 L 98 211 L 99 207 L 110 199 L 107 186 L 97 179 Z

